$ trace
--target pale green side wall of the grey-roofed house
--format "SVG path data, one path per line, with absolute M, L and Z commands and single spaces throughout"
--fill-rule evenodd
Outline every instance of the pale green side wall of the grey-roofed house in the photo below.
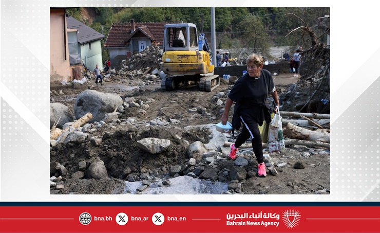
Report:
M 91 41 L 91 49 L 89 49 L 89 43 L 82 44 L 81 46 L 81 57 L 83 64 L 92 71 L 96 65 L 103 70 L 102 61 L 102 44 L 100 40 Z M 112 66 L 112 61 L 111 61 Z

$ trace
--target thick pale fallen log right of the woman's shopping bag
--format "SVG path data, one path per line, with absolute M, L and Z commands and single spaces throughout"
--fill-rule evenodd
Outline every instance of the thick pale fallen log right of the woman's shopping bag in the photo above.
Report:
M 290 139 L 322 141 L 330 143 L 330 133 L 327 130 L 312 131 L 295 126 L 290 122 L 284 124 L 286 124 L 286 127 L 282 129 L 284 137 L 288 137 Z

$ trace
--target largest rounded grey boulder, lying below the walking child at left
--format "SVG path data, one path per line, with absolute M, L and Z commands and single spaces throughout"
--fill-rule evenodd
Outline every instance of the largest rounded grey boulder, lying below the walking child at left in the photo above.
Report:
M 93 123 L 101 121 L 107 113 L 112 113 L 120 105 L 123 105 L 123 100 L 118 95 L 86 90 L 75 100 L 74 113 L 77 119 L 91 113 L 93 118 L 89 122 Z

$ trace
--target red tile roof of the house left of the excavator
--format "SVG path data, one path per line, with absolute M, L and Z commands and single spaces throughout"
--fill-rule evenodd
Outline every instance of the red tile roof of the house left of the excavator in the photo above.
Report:
M 161 23 L 135 23 L 135 32 L 143 32 L 152 41 L 152 44 L 163 46 L 164 43 L 164 26 L 165 22 Z M 104 43 L 104 47 L 126 47 L 131 39 L 131 24 L 130 23 L 114 23 L 109 30 L 108 37 Z

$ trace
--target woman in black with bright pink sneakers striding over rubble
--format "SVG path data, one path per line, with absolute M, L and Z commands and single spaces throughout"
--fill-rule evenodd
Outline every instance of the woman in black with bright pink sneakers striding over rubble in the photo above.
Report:
M 271 122 L 272 112 L 267 104 L 268 94 L 271 94 L 277 107 L 279 107 L 280 102 L 272 74 L 268 70 L 262 69 L 263 58 L 254 53 L 246 59 L 246 64 L 248 72 L 240 77 L 231 89 L 225 102 L 221 120 L 223 125 L 227 123 L 231 105 L 236 102 L 232 118 L 232 133 L 234 134 L 235 129 L 240 129 L 241 122 L 243 129 L 235 143 L 230 146 L 229 157 L 235 159 L 238 148 L 251 137 L 252 149 L 258 163 L 257 173 L 258 176 L 263 177 L 267 175 L 267 170 L 262 153 L 259 125 L 261 126 L 264 120 L 267 123 Z

